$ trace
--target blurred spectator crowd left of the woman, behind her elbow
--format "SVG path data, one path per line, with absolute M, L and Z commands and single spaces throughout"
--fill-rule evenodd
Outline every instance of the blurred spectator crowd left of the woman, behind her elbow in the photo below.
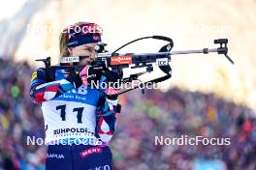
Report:
M 0 169 L 45 169 L 45 146 L 27 145 L 44 137 L 41 109 L 29 98 L 32 69 L 0 59 Z

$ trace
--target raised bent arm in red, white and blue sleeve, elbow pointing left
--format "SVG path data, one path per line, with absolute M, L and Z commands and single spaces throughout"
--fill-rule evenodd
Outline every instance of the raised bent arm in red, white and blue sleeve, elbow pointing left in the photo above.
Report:
M 58 81 L 47 82 L 46 70 L 34 71 L 30 83 L 30 97 L 35 103 L 55 99 L 65 92 L 80 87 L 79 75 L 68 76 Z

